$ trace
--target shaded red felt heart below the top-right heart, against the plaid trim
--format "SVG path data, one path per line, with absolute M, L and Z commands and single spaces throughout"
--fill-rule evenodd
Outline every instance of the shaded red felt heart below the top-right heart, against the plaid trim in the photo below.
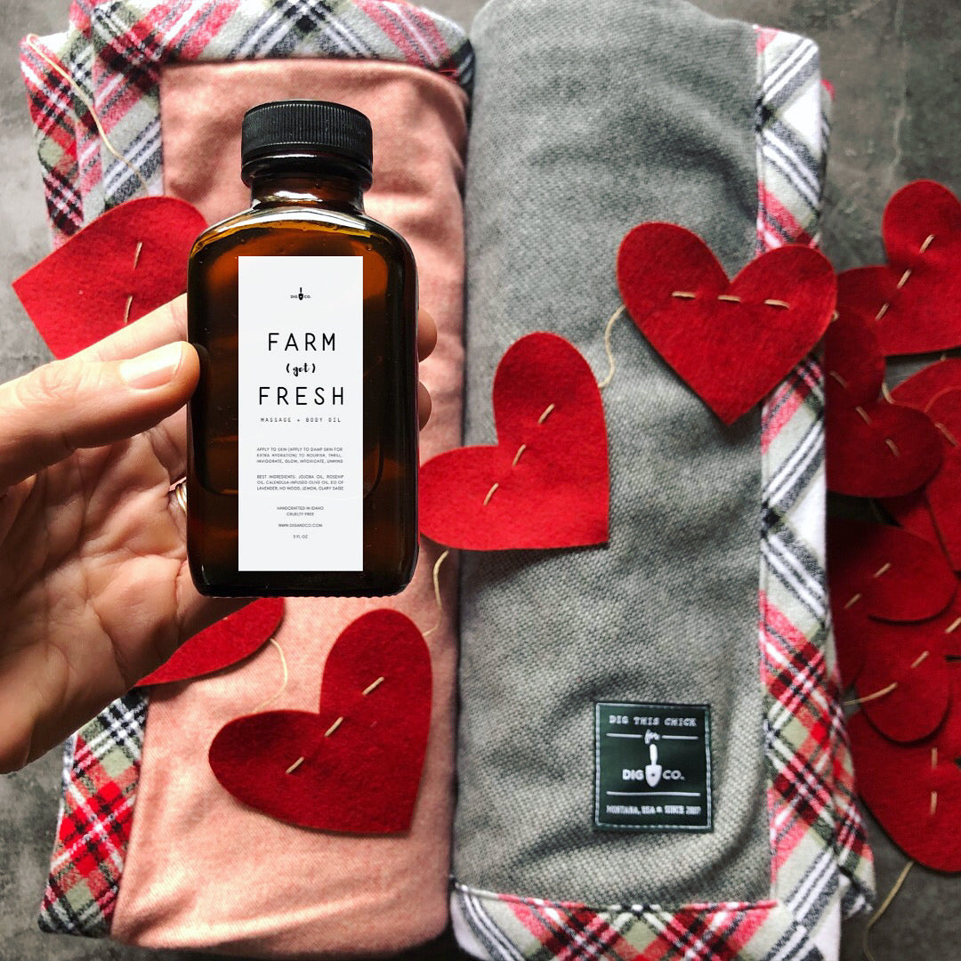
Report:
M 884 360 L 859 319 L 841 317 L 825 335 L 828 489 L 855 497 L 907 494 L 941 463 L 941 438 L 920 410 L 878 401 Z

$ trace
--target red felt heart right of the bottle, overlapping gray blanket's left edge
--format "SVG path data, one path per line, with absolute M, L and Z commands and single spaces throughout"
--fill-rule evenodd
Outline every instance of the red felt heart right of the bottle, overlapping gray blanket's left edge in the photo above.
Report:
M 494 422 L 497 446 L 421 468 L 421 532 L 469 551 L 603 544 L 607 434 L 587 361 L 553 333 L 521 337 L 494 375 Z

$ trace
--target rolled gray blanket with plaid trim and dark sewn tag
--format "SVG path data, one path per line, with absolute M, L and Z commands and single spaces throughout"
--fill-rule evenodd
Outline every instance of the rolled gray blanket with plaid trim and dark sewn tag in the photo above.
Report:
M 472 42 L 465 438 L 482 444 L 520 336 L 566 337 L 604 379 L 631 227 L 687 227 L 733 276 L 772 245 L 759 223 L 813 233 L 824 145 L 814 45 L 681 0 L 490 0 Z M 778 158 L 766 144 L 790 105 Z M 808 363 L 770 402 L 762 444 L 759 409 L 725 427 L 627 317 L 611 339 L 608 543 L 463 554 L 458 940 L 495 958 L 682 951 L 723 904 L 741 912 L 718 935 L 739 957 L 783 938 L 829 956 L 838 861 L 870 887 L 870 855 L 859 822 L 856 856 L 838 850 L 857 815 L 825 758 L 845 768 L 843 747 L 810 746 L 838 717 L 819 373 Z M 765 653 L 776 625 L 798 671 L 817 661 L 803 706 L 779 700 L 794 680 Z M 805 792 L 820 800 L 799 818 Z

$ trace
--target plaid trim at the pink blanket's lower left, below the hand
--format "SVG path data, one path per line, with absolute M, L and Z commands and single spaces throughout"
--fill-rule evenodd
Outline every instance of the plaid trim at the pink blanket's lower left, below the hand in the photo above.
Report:
M 110 933 L 134 817 L 146 720 L 147 699 L 132 691 L 64 746 L 57 840 L 38 919 L 43 931 Z

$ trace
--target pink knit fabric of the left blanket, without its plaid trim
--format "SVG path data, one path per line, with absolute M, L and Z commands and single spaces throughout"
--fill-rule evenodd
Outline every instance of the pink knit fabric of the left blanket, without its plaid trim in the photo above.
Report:
M 438 328 L 437 348 L 421 367 L 434 405 L 421 437 L 426 459 L 459 442 L 467 98 L 449 80 L 399 63 L 167 67 L 160 82 L 166 192 L 195 204 L 211 222 L 244 209 L 241 116 L 262 101 L 294 97 L 337 100 L 371 118 L 374 186 L 367 210 L 407 238 L 421 305 Z M 414 580 L 394 599 L 288 601 L 277 639 L 289 681 L 269 709 L 317 709 L 327 653 L 366 610 L 396 607 L 430 630 L 438 620 L 436 557 L 435 546 L 422 542 Z M 207 759 L 213 736 L 281 686 L 280 657 L 268 646 L 238 667 L 151 695 L 114 937 L 151 948 L 314 957 L 402 949 L 443 929 L 454 776 L 453 559 L 441 568 L 440 583 L 445 613 L 427 636 L 431 733 L 407 834 L 345 836 L 286 825 L 235 801 L 214 779 Z

